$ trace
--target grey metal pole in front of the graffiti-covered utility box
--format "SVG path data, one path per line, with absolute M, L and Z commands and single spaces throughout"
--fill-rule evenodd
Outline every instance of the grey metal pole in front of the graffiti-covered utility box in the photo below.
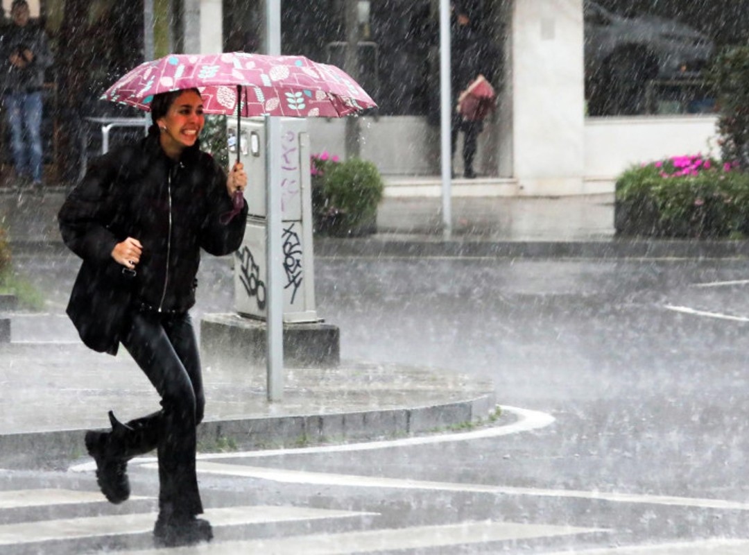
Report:
M 270 55 L 281 54 L 281 0 L 267 0 L 266 47 Z M 265 118 L 266 153 L 266 283 L 267 300 L 267 395 L 268 401 L 283 397 L 283 284 L 281 224 L 281 120 Z

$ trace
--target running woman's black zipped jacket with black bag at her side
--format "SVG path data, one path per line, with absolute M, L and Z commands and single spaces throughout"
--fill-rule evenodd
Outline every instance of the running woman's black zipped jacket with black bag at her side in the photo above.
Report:
M 246 204 L 228 225 L 219 222 L 232 208 L 225 184 L 198 145 L 175 162 L 154 133 L 91 164 L 58 214 L 64 243 L 83 259 L 67 314 L 86 345 L 116 354 L 133 306 L 180 313 L 195 304 L 200 249 L 226 255 L 242 243 Z M 112 258 L 127 237 L 143 246 L 133 277 Z

